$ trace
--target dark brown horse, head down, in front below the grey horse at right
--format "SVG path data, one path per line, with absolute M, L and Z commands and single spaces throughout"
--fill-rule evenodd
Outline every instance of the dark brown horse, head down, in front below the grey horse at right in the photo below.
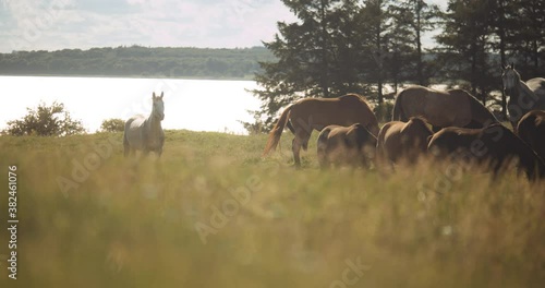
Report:
M 449 127 L 435 133 L 427 146 L 439 158 L 469 160 L 492 168 L 494 176 L 518 158 L 530 180 L 545 178 L 545 164 L 519 136 L 499 123 L 486 128 Z

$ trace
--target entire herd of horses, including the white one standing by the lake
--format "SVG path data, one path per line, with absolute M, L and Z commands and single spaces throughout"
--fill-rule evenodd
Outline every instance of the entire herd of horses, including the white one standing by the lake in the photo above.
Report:
M 518 167 L 529 179 L 545 178 L 545 79 L 524 83 L 513 64 L 502 67 L 501 77 L 510 96 L 512 131 L 463 89 L 436 91 L 414 85 L 397 95 L 392 121 L 382 128 L 360 95 L 300 99 L 281 113 L 264 155 L 278 146 L 288 127 L 294 135 L 292 153 L 296 167 L 301 166 L 301 148 L 307 149 L 311 134 L 317 130 L 317 157 L 323 168 L 393 167 L 401 161 L 414 164 L 427 155 L 486 165 L 495 176 L 518 159 Z M 161 155 L 162 96 L 153 94 L 153 109 L 147 118 L 134 116 L 125 122 L 125 157 L 135 149 L 144 155 Z

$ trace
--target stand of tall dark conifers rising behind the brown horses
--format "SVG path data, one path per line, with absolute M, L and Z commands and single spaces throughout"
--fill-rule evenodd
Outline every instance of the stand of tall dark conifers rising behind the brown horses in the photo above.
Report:
M 514 62 L 522 80 L 545 75 L 545 2 L 449 0 L 282 0 L 298 17 L 278 22 L 275 56 L 255 76 L 262 100 L 251 131 L 271 129 L 279 110 L 302 97 L 358 93 L 385 106 L 385 84 L 457 85 L 506 113 L 501 64 Z M 436 46 L 423 35 L 436 31 Z M 388 103 L 386 103 L 388 105 Z M 391 103 L 389 103 L 391 106 Z M 383 109 L 384 110 L 384 109 Z M 385 118 L 387 119 L 387 118 Z M 382 120 L 385 120 L 382 119 Z

